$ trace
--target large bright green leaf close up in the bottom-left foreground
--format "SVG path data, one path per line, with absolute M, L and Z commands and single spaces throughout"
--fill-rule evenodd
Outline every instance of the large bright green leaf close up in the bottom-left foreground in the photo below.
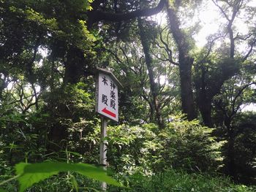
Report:
M 62 162 L 45 162 L 39 164 L 20 163 L 15 166 L 16 173 L 20 174 L 18 181 L 20 183 L 20 191 L 24 191 L 34 183 L 58 174 L 59 172 L 78 172 L 86 177 L 99 180 L 110 185 L 121 187 L 122 185 L 107 175 L 107 172 L 97 166 L 89 164 L 67 164 Z

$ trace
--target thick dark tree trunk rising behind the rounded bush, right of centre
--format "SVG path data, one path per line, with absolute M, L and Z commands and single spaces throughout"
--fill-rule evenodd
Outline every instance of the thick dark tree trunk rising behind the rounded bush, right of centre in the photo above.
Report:
M 181 28 L 176 12 L 167 1 L 167 16 L 169 18 L 170 31 L 178 47 L 179 75 L 181 80 L 181 107 L 188 120 L 196 118 L 195 104 L 192 92 L 192 64 L 193 58 L 189 56 L 189 44 Z

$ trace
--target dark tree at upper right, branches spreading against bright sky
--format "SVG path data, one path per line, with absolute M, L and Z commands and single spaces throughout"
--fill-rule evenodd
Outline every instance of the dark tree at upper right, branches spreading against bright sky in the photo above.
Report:
M 206 126 L 213 126 L 211 120 L 212 101 L 225 81 L 239 73 L 241 67 L 249 61 L 255 46 L 255 36 L 252 31 L 242 34 L 236 29 L 236 20 L 239 15 L 246 14 L 249 19 L 251 12 L 246 12 L 252 7 L 246 6 L 244 1 L 213 1 L 221 14 L 227 21 L 221 34 L 216 34 L 209 38 L 206 50 L 196 62 L 196 71 L 199 72 L 195 77 L 195 88 L 197 90 L 197 106 Z M 246 13 L 245 13 L 246 12 Z M 248 24 L 250 25 L 250 24 Z M 234 34 L 237 33 L 235 36 Z M 225 39 L 229 43 L 225 43 Z M 222 40 L 222 48 L 214 49 L 214 43 Z M 247 44 L 245 53 L 239 53 L 238 46 Z M 216 46 L 215 46 L 216 47 Z M 216 56 L 218 54 L 219 56 Z M 215 55 L 215 56 L 214 56 Z M 227 56 L 228 55 L 228 56 Z

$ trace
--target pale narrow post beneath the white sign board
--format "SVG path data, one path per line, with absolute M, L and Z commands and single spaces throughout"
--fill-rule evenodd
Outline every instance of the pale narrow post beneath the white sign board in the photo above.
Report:
M 99 164 L 103 166 L 103 169 L 107 169 L 107 123 L 108 120 L 104 117 L 101 117 L 101 126 L 100 126 L 100 148 L 99 148 Z M 107 190 L 107 183 L 101 183 L 102 191 Z

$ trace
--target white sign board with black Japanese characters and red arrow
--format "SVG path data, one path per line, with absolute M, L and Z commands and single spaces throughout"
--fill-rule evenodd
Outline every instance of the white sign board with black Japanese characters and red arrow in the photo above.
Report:
M 118 121 L 118 86 L 110 75 L 102 72 L 99 72 L 97 82 L 96 111 Z

